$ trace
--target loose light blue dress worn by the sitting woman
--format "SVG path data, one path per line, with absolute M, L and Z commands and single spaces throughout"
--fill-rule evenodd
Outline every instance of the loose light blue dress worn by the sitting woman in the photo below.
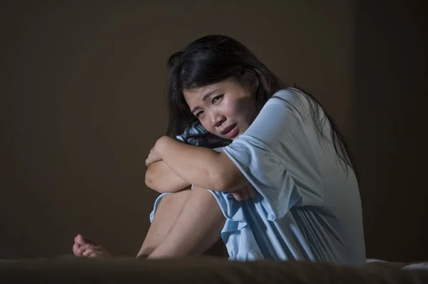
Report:
M 328 123 L 322 130 L 330 137 Z M 250 201 L 210 191 L 226 218 L 221 237 L 231 261 L 365 264 L 357 179 L 332 144 L 317 135 L 300 90 L 272 95 L 248 130 L 223 151 L 258 191 Z

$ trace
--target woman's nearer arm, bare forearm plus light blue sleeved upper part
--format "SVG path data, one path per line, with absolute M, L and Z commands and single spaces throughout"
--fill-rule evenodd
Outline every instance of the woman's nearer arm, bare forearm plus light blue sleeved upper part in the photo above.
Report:
M 288 146 L 290 149 L 305 152 L 305 149 L 301 149 L 300 142 L 307 141 L 301 131 L 303 122 L 295 115 L 294 108 L 290 107 L 290 103 L 299 106 L 299 97 L 289 90 L 276 95 L 278 99 L 269 100 L 265 104 L 245 131 L 245 137 L 241 138 L 241 135 L 227 147 L 228 154 L 231 149 L 235 153 L 231 156 L 234 161 L 225 152 L 218 153 L 212 149 L 191 146 L 170 137 L 161 137 L 156 142 L 154 151 L 181 179 L 201 188 L 235 191 L 247 185 L 248 180 L 235 164 L 238 156 L 238 163 L 241 169 L 246 168 L 246 174 L 258 175 L 258 180 L 272 185 L 272 181 L 277 179 L 273 172 L 276 170 L 280 171 L 276 174 L 281 174 L 285 169 L 271 149 L 275 149 L 274 152 L 284 151 L 284 144 L 291 143 L 292 147 Z M 269 165 L 271 167 L 267 167 Z M 266 172 L 271 168 L 273 172 Z

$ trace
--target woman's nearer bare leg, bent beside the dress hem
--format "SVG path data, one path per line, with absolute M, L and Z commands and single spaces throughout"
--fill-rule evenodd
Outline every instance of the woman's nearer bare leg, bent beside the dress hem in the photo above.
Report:
M 224 223 L 225 217 L 214 196 L 207 190 L 195 188 L 190 191 L 178 218 L 173 221 L 173 226 L 162 243 L 158 244 L 148 258 L 202 254 L 220 239 Z

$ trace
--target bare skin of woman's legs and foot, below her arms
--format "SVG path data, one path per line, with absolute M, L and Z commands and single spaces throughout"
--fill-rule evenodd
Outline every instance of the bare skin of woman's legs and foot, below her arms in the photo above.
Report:
M 207 190 L 188 188 L 168 194 L 161 199 L 136 258 L 175 258 L 200 254 L 228 256 L 220 240 L 224 222 L 217 201 Z M 81 235 L 76 236 L 74 241 L 75 256 L 113 257 L 106 248 Z

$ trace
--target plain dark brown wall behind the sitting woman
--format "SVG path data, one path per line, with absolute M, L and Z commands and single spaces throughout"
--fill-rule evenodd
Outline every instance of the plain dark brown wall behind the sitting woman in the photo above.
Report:
M 337 120 L 360 167 L 367 257 L 428 260 L 419 6 L 154 2 L 1 2 L 0 258 L 71 253 L 77 233 L 136 255 L 156 197 L 144 159 L 165 132 L 165 62 L 223 33 Z

